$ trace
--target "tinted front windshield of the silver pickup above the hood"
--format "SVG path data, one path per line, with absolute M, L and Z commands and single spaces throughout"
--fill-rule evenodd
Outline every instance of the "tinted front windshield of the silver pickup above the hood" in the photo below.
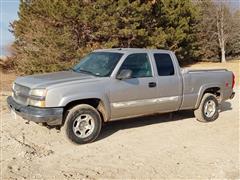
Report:
M 113 52 L 93 52 L 81 59 L 72 70 L 101 77 L 110 76 L 122 55 Z

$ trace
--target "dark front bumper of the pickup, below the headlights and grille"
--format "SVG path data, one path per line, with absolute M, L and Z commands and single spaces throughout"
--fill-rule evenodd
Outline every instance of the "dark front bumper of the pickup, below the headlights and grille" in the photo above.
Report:
M 36 123 L 47 123 L 48 125 L 62 125 L 63 108 L 38 108 L 33 106 L 23 106 L 9 96 L 7 98 L 8 107 L 23 119 Z

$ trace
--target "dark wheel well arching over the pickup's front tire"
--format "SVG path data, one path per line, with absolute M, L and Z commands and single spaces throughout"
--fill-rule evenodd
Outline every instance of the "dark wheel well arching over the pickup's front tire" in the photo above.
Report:
M 101 101 L 101 99 L 98 99 L 98 98 L 89 98 L 89 99 L 80 99 L 80 100 L 75 100 L 75 101 L 72 101 L 72 102 L 69 102 L 65 107 L 64 107 L 64 111 L 63 111 L 63 123 L 64 123 L 64 120 L 67 116 L 67 112 L 69 109 L 73 108 L 74 106 L 76 105 L 79 105 L 79 104 L 88 104 L 92 107 L 94 107 L 95 109 L 98 110 L 100 116 L 101 116 L 101 119 L 103 121 L 105 121 L 106 117 L 106 113 L 105 113 L 105 109 L 104 109 L 104 106 L 103 106 L 103 103 Z

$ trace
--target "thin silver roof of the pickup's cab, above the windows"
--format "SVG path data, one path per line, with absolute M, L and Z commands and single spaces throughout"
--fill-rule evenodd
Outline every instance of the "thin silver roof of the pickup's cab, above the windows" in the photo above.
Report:
M 123 53 L 147 53 L 147 52 L 165 52 L 171 51 L 164 49 L 146 49 L 146 48 L 111 48 L 111 49 L 97 49 L 94 52 L 123 52 Z

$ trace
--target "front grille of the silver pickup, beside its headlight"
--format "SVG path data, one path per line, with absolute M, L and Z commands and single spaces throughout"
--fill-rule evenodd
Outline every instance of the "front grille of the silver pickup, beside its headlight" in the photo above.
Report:
M 30 88 L 26 86 L 22 86 L 19 84 L 14 85 L 13 89 L 13 98 L 16 102 L 22 105 L 28 104 L 28 96 L 29 96 Z

